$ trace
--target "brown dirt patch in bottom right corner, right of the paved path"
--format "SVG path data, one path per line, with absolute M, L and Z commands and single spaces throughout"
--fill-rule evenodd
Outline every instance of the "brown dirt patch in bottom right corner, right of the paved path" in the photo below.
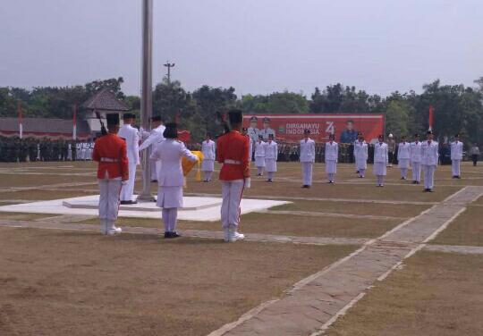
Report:
M 483 330 L 481 256 L 419 252 L 378 282 L 327 336 L 455 336 Z

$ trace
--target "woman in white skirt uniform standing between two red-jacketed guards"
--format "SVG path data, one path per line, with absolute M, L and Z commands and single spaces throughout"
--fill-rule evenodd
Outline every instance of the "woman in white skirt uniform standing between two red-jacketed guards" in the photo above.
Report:
M 157 179 L 157 206 L 163 208 L 162 216 L 165 223 L 165 238 L 177 238 L 176 220 L 178 207 L 182 207 L 182 156 L 191 161 L 198 161 L 181 141 L 178 141 L 178 130 L 175 123 L 167 123 L 163 133 L 164 141 L 157 142 L 150 158 L 161 161 L 162 169 Z

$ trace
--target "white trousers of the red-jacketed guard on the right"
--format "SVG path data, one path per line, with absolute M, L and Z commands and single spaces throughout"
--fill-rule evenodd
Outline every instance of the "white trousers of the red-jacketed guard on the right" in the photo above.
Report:
M 240 202 L 242 202 L 244 180 L 222 181 L 222 227 L 238 226 L 240 223 Z

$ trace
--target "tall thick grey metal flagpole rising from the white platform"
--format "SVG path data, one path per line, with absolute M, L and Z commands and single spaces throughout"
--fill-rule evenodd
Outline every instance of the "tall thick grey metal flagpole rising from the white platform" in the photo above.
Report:
M 153 113 L 153 0 L 142 0 L 142 74 L 141 74 L 141 105 L 140 123 L 144 130 L 150 130 L 149 121 Z M 138 199 L 150 201 L 151 196 L 151 165 L 148 150 L 141 154 L 142 192 Z

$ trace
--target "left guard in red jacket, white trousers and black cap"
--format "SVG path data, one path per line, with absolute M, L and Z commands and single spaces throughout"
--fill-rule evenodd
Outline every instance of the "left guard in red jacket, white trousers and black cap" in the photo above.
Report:
M 98 162 L 101 232 L 113 235 L 122 231 L 115 227 L 115 220 L 119 209 L 119 192 L 122 184 L 129 179 L 129 168 L 126 142 L 116 135 L 119 130 L 119 114 L 109 113 L 106 119 L 109 132 L 96 140 L 92 159 Z

